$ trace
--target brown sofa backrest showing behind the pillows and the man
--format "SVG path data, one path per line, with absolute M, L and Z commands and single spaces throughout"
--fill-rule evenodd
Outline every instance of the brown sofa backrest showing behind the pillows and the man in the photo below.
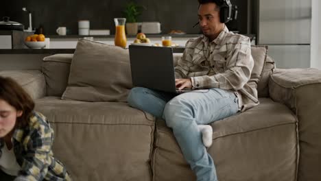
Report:
M 174 53 L 174 65 L 182 53 Z M 47 82 L 47 96 L 61 97 L 68 84 L 73 54 L 56 54 L 43 59 L 43 73 Z M 274 60 L 267 56 L 261 80 L 257 85 L 259 97 L 269 97 L 268 80 L 274 69 Z

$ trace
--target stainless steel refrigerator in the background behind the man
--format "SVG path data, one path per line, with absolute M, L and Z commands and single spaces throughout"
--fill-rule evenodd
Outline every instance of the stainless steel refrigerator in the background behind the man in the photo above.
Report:
M 309 68 L 311 0 L 257 0 L 256 6 L 257 45 L 268 45 L 277 68 Z

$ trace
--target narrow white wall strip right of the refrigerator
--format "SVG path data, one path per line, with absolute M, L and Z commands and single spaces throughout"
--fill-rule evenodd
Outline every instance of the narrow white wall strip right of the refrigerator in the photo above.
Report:
M 312 0 L 310 67 L 321 69 L 321 3 L 318 1 Z

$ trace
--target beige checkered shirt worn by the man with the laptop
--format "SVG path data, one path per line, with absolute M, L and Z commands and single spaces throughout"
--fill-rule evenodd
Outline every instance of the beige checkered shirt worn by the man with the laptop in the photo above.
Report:
M 175 75 L 190 77 L 195 89 L 234 91 L 239 98 L 239 110 L 244 111 L 259 104 L 257 85 L 249 81 L 253 66 L 250 38 L 225 27 L 212 42 L 206 36 L 188 40 Z

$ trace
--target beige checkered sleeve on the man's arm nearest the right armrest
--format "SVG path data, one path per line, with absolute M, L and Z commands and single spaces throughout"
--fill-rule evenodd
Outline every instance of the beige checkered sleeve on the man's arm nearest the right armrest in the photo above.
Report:
M 250 80 L 254 67 L 249 38 L 241 38 L 226 62 L 226 71 L 215 75 L 191 77 L 195 88 L 239 90 Z

